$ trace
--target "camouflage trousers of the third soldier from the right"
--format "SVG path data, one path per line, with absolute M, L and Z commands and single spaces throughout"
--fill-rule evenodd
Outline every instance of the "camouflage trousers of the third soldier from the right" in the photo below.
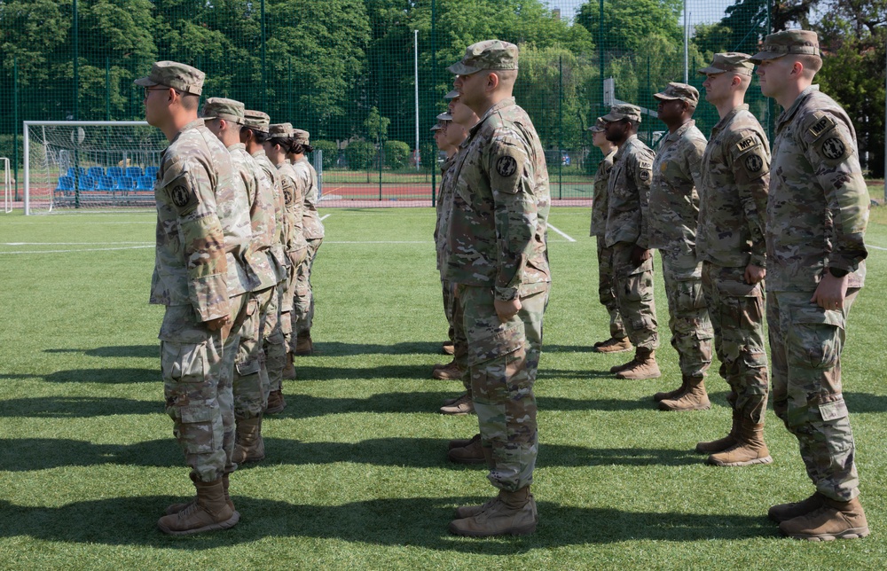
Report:
M 714 337 L 703 294 L 702 264 L 695 256 L 669 250 L 659 250 L 659 254 L 663 259 L 671 347 L 678 351 L 681 374 L 701 379 L 711 366 Z

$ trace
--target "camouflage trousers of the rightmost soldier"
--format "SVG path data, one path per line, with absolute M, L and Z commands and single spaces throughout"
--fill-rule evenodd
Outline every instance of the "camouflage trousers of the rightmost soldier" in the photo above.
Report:
M 820 308 L 811 303 L 811 292 L 767 295 L 773 411 L 797 437 L 816 490 L 844 502 L 860 493 L 856 444 L 841 394 L 844 332 L 858 293 L 847 292 L 844 309 Z

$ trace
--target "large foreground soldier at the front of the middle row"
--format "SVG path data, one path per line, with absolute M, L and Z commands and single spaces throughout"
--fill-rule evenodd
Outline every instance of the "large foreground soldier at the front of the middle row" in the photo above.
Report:
M 498 497 L 456 510 L 459 536 L 535 531 L 530 494 L 536 465 L 536 381 L 542 316 L 551 274 L 545 154 L 526 112 L 514 103 L 517 46 L 468 46 L 452 66 L 459 100 L 480 121 L 452 167 L 445 278 L 453 285 L 456 357 L 471 379 L 488 479 Z M 467 341 L 458 342 L 459 337 Z

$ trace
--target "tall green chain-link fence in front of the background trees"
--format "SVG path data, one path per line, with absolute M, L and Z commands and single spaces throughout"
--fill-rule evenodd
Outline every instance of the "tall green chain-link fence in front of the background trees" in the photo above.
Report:
M 770 16 L 765 0 L 0 0 L 0 156 L 19 196 L 22 121 L 140 120 L 132 81 L 175 59 L 206 72 L 204 97 L 309 130 L 327 204 L 427 204 L 446 67 L 498 37 L 521 46 L 515 97 L 553 198 L 590 199 L 600 153 L 586 129 L 612 100 L 649 110 L 641 136 L 655 144 L 653 94 L 685 77 L 703 92 L 695 70 L 715 51 L 754 52 Z M 749 95 L 769 123 L 760 91 Z M 695 118 L 705 133 L 718 115 L 702 102 Z

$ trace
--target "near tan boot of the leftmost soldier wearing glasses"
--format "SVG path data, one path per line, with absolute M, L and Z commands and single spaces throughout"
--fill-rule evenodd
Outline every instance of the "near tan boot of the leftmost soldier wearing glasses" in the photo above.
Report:
M 216 481 L 194 481 L 197 499 L 183 510 L 164 515 L 157 521 L 163 533 L 172 536 L 198 534 L 214 529 L 232 528 L 240 520 L 240 514 L 226 499 L 222 478 Z

